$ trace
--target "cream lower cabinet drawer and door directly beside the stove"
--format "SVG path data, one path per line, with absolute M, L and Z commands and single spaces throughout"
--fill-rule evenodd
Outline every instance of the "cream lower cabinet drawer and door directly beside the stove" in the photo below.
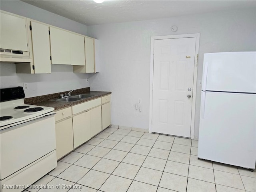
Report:
M 57 159 L 60 159 L 74 149 L 73 126 L 70 107 L 56 111 L 55 132 L 56 154 Z

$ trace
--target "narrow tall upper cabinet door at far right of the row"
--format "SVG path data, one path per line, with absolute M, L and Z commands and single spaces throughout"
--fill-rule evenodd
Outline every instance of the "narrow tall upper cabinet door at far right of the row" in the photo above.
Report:
M 85 72 L 94 73 L 94 39 L 84 37 Z

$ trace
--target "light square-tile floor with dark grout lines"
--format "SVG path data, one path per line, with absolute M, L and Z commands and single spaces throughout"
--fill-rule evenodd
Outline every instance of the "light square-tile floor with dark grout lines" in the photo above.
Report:
M 256 191 L 255 171 L 199 160 L 197 151 L 196 140 L 107 128 L 26 190 Z

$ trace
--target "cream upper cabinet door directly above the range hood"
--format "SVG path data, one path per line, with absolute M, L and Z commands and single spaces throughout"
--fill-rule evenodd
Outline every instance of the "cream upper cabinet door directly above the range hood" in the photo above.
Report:
M 26 18 L 1 12 L 1 48 L 28 51 Z

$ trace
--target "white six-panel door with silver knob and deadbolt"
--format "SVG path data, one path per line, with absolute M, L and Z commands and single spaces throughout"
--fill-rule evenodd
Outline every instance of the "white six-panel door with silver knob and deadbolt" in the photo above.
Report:
M 196 38 L 154 40 L 152 132 L 190 137 Z

